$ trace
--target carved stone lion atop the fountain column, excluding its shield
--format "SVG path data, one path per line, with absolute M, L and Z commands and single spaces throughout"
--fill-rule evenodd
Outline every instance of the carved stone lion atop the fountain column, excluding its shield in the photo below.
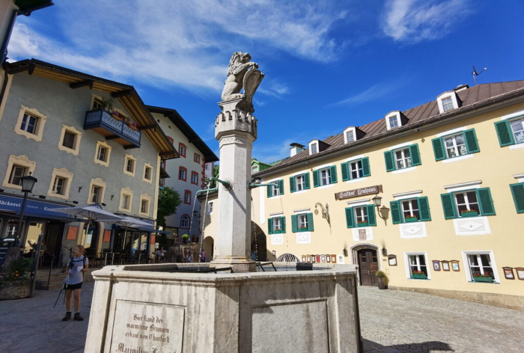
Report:
M 251 55 L 241 51 L 236 51 L 231 56 L 227 78 L 222 90 L 222 101 L 245 96 L 240 93 L 244 86 L 244 76 L 249 69 L 258 69 L 258 64 L 249 60 L 251 60 Z

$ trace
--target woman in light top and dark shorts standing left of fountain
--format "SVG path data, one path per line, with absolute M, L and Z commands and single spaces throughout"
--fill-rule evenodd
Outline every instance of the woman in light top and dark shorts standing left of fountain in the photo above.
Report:
M 71 320 L 71 297 L 74 297 L 74 317 L 73 320 L 83 321 L 80 316 L 80 291 L 84 280 L 84 272 L 89 269 L 89 260 L 84 256 L 85 248 L 77 245 L 73 248 L 74 256 L 71 257 L 65 269 L 64 289 L 65 289 L 65 316 L 62 321 Z

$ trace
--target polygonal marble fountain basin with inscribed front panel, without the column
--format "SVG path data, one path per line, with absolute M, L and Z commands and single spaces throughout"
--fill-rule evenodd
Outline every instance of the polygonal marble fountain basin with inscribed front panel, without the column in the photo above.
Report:
M 191 272 L 198 264 L 94 271 L 85 351 L 357 352 L 356 266 L 275 267 L 217 274 Z

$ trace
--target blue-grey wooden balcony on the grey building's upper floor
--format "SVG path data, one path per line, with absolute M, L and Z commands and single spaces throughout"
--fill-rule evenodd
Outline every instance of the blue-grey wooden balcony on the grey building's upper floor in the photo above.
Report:
M 140 147 L 140 131 L 130 128 L 124 121 L 111 116 L 104 109 L 90 110 L 85 113 L 84 129 L 93 129 L 106 140 L 113 140 L 123 145 L 126 149 Z

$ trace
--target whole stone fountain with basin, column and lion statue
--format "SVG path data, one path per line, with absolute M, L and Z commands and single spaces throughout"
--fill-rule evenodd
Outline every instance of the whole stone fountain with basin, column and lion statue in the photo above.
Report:
M 214 259 L 93 272 L 86 352 L 361 350 L 355 266 L 274 263 L 260 271 L 250 259 L 252 99 L 264 78 L 250 59 L 233 54 L 215 120 L 221 185 Z

